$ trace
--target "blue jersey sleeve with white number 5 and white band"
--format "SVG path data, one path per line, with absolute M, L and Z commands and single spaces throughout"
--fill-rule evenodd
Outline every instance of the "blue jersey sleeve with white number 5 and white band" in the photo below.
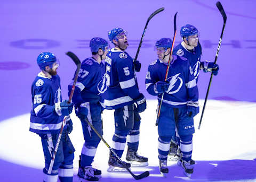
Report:
M 132 99 L 138 98 L 140 96 L 140 92 L 135 81 L 132 59 L 130 57 L 127 57 L 126 59 L 119 58 L 116 62 L 116 69 L 119 84 L 123 92 Z

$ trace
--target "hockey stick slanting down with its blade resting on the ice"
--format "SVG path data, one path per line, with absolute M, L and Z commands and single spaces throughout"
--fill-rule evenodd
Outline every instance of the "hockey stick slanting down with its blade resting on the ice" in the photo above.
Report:
M 122 162 L 122 160 L 118 157 L 118 155 L 116 154 L 116 152 L 109 146 L 109 144 L 104 140 L 104 138 L 99 134 L 99 132 L 97 131 L 97 129 L 94 128 L 94 126 L 89 122 L 89 120 L 87 118 L 85 118 L 86 123 L 93 129 L 93 131 L 100 137 L 100 139 L 103 141 L 103 143 L 105 143 L 105 145 L 107 145 L 108 149 L 115 155 L 115 157 L 117 158 L 117 160 L 119 162 Z M 142 178 L 146 178 L 149 176 L 149 172 L 145 171 L 140 175 L 134 175 L 133 172 L 131 171 L 131 169 L 129 168 L 125 168 L 134 179 L 142 179 Z

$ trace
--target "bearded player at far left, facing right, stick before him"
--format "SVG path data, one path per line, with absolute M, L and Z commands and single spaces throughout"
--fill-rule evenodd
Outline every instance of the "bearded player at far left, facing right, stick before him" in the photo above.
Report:
M 52 53 L 41 53 L 37 57 L 37 64 L 41 69 L 31 86 L 32 110 L 29 131 L 41 137 L 45 167 L 44 181 L 61 182 L 73 181 L 74 147 L 68 133 L 73 129 L 69 114 L 73 110 L 73 103 L 62 101 L 60 77 L 57 75 L 59 62 Z M 54 147 L 57 143 L 62 120 L 67 117 L 63 128 L 59 148 L 55 155 L 51 174 L 48 169 L 51 163 Z

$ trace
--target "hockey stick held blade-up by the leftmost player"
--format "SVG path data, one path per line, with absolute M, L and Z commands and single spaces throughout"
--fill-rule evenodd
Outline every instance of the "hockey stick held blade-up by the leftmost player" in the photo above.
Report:
M 74 94 L 78 73 L 79 73 L 79 70 L 80 70 L 80 67 L 81 67 L 81 61 L 78 59 L 78 57 L 74 53 L 72 53 L 70 51 L 68 51 L 66 53 L 66 55 L 68 55 L 74 61 L 74 63 L 76 64 L 76 75 L 75 75 L 75 79 L 74 79 L 74 83 L 73 83 L 73 86 L 72 86 L 72 90 L 70 92 L 70 96 L 69 96 L 69 99 L 68 99 L 68 103 L 70 103 L 71 99 L 73 97 L 73 94 Z M 58 148 L 59 148 L 59 144 L 60 144 L 60 139 L 61 139 L 61 135 L 62 135 L 62 132 L 63 132 L 63 128 L 66 125 L 66 119 L 67 119 L 67 117 L 65 116 L 63 121 L 62 121 L 62 124 L 61 124 L 60 134 L 59 134 L 57 143 L 56 143 L 55 148 L 54 148 L 54 152 L 53 152 L 53 155 L 52 155 L 52 160 L 51 160 L 49 169 L 47 171 L 47 174 L 49 174 L 49 175 L 52 172 L 52 167 L 53 167 L 53 163 L 54 163 L 54 160 L 55 160 L 55 155 L 56 155 L 56 153 L 58 151 Z

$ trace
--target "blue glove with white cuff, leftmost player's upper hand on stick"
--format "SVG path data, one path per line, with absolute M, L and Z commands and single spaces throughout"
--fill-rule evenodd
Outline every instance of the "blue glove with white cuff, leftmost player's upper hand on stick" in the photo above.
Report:
M 68 100 L 64 100 L 62 102 L 55 103 L 52 108 L 59 116 L 68 116 L 72 112 L 73 106 L 74 103 L 68 103 Z

